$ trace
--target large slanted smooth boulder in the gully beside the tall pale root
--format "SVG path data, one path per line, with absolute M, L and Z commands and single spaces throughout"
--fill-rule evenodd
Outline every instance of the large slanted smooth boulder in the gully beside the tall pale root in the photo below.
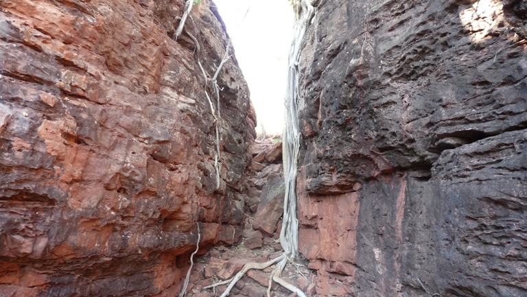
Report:
M 271 176 L 266 187 L 261 191 L 260 203 L 253 221 L 255 230 L 260 230 L 266 236 L 272 235 L 277 228 L 278 220 L 283 214 L 284 195 L 283 176 Z

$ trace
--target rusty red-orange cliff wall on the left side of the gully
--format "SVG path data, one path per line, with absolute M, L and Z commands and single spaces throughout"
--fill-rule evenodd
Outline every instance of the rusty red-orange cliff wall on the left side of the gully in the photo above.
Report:
M 174 296 L 196 222 L 202 247 L 242 234 L 255 115 L 230 60 L 217 188 L 198 60 L 213 73 L 227 36 L 202 0 L 199 46 L 172 40 L 184 4 L 0 2 L 1 296 Z

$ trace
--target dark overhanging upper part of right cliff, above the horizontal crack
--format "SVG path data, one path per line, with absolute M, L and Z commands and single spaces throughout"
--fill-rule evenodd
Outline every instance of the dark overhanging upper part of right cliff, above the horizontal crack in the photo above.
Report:
M 524 126 L 523 47 L 496 54 L 513 42 L 510 5 L 469 2 L 318 7 L 301 62 L 301 120 L 318 131 L 305 136 L 317 147 L 306 156 L 310 193 L 352 191 L 395 169 L 430 177 L 441 151 Z M 489 19 L 467 15 L 483 6 Z

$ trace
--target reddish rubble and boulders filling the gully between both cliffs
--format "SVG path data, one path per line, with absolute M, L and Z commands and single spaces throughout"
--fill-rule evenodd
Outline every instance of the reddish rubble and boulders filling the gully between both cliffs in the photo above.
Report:
M 250 146 L 250 153 L 253 155 L 253 176 L 249 179 L 250 197 L 245 205 L 242 241 L 233 246 L 216 246 L 196 257 L 187 296 L 220 296 L 227 285 L 204 288 L 235 276 L 246 263 L 263 263 L 281 255 L 279 235 L 284 197 L 281 141 L 277 137 L 257 140 Z M 266 296 L 273 268 L 274 265 L 264 270 L 249 270 L 237 282 L 230 296 Z M 303 292 L 308 292 L 308 296 L 316 294 L 316 274 L 307 268 L 305 259 L 298 259 L 296 265 L 288 263 L 282 276 Z M 292 295 L 273 283 L 271 296 L 296 294 Z

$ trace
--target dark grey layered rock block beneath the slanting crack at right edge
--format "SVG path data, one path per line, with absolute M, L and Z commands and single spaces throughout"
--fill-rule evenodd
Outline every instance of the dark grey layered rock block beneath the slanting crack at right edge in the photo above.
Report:
M 434 216 L 443 219 L 437 263 L 452 272 L 441 287 L 476 296 L 527 294 L 526 169 L 527 130 L 441 154 L 432 168 L 441 206 Z

